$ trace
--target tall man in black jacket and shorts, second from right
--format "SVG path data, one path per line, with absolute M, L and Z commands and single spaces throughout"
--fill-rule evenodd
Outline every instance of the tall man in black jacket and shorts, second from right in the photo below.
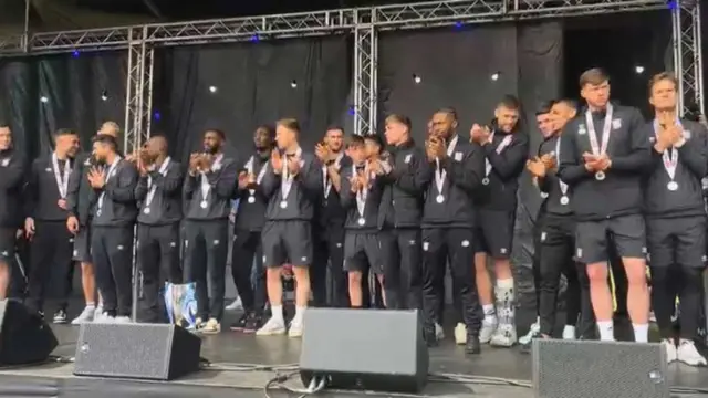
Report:
M 628 280 L 627 308 L 637 342 L 646 342 L 649 297 L 641 177 L 650 164 L 650 142 L 636 108 L 610 104 L 610 82 L 598 69 L 580 78 L 587 108 L 564 128 L 558 175 L 570 186 L 577 261 L 585 263 L 602 341 L 614 341 L 607 285 L 607 234 L 612 233 Z

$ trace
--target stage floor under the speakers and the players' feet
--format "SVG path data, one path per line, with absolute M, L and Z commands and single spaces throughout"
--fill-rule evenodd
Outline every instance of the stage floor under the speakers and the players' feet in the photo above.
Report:
M 522 312 L 520 323 L 523 329 L 531 322 L 531 312 Z M 232 321 L 236 314 L 229 314 Z M 523 322 L 525 321 L 525 322 Z M 74 356 L 77 327 L 53 326 L 60 346 L 53 353 L 59 358 Z M 478 377 L 476 383 L 440 380 L 428 384 L 424 396 L 435 397 L 493 397 L 530 398 L 533 391 L 528 386 L 531 380 L 532 358 L 518 347 L 511 349 L 483 347 L 480 356 L 469 357 L 464 347 L 452 342 L 451 327 L 447 328 L 445 342 L 430 349 L 431 374 L 458 374 Z M 256 337 L 233 332 L 222 332 L 216 336 L 204 336 L 201 356 L 210 367 L 185 378 L 169 381 L 135 381 L 85 378 L 73 376 L 73 364 L 55 362 L 43 365 L 0 369 L 0 397 L 262 397 L 266 384 L 278 374 L 293 371 L 300 357 L 300 342 L 287 337 Z M 345 360 L 345 359 L 343 359 Z M 248 364 L 248 366 L 246 365 Z M 673 364 L 670 379 L 673 386 L 706 389 L 708 391 L 708 369 L 691 368 Z M 503 379 L 502 379 L 503 378 Z M 479 383 L 477 383 L 479 381 Z M 517 385 L 514 385 L 517 384 Z M 288 383 L 302 388 L 298 376 Z M 283 390 L 269 390 L 271 397 L 296 396 Z M 361 394 L 342 391 L 321 392 L 323 397 L 356 397 Z M 392 394 L 367 396 L 393 397 Z

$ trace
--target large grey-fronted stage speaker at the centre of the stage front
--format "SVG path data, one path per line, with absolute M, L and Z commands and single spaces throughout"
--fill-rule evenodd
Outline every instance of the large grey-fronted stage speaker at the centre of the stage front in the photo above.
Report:
M 428 380 L 428 347 L 417 311 L 308 308 L 300 375 L 305 386 L 419 392 Z

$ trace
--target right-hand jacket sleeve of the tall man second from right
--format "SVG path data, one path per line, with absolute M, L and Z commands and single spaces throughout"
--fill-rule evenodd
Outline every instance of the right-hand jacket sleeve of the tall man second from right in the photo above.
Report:
M 607 171 L 644 171 L 652 164 L 652 140 L 645 128 L 639 111 L 632 108 L 628 118 L 629 135 L 632 137 L 631 153 L 625 156 L 611 157 L 612 166 Z

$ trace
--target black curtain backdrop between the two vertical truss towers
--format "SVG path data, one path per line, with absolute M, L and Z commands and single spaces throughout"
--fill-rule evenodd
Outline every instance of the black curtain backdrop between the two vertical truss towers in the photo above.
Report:
M 327 125 L 347 119 L 346 36 L 166 49 L 156 65 L 152 130 L 165 134 L 181 159 L 200 148 L 207 128 L 227 133 L 227 151 L 248 154 L 261 124 L 295 117 L 303 146 L 312 148 Z

